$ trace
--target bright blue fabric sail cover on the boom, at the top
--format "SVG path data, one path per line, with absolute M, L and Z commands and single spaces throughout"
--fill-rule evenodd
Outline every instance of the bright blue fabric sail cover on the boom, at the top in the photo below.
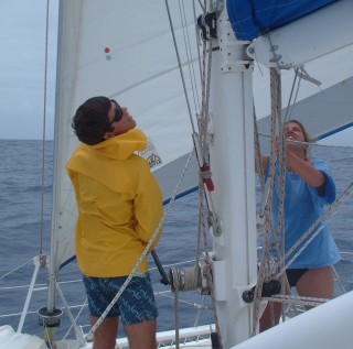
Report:
M 228 0 L 235 36 L 253 40 L 338 0 Z

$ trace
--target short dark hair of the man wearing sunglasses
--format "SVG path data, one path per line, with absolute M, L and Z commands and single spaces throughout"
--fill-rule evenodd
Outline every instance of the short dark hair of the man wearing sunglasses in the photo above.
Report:
M 110 107 L 107 97 L 92 97 L 78 107 L 72 127 L 81 142 L 94 145 L 105 140 L 104 134 L 111 131 L 108 118 Z

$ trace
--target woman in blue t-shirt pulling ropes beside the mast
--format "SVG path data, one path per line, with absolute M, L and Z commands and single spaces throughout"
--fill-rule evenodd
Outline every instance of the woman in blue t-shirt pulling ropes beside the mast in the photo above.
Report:
M 307 156 L 310 139 L 304 127 L 297 120 L 286 123 L 286 189 L 285 189 L 285 251 L 287 252 L 312 223 L 323 214 L 324 205 L 335 199 L 335 186 L 327 164 Z M 265 175 L 269 171 L 269 157 L 263 156 Z M 279 168 L 276 168 L 277 173 Z M 279 188 L 275 185 L 274 225 L 278 221 Z M 318 228 L 320 225 L 318 226 Z M 317 229 L 318 229 L 317 228 Z M 314 229 L 310 236 L 312 236 Z M 309 236 L 309 238 L 310 238 Z M 286 263 L 292 260 L 308 238 L 291 252 Z M 340 253 L 325 226 L 300 252 L 286 270 L 289 285 L 300 296 L 332 298 L 332 265 L 340 261 Z M 275 321 L 278 323 L 280 304 L 275 303 Z M 269 306 L 260 319 L 260 330 L 271 327 Z

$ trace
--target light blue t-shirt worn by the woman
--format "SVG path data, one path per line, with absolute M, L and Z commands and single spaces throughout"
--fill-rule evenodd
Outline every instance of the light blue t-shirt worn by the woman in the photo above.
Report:
M 285 197 L 285 251 L 287 252 L 299 238 L 311 227 L 311 225 L 324 212 L 324 205 L 335 200 L 335 185 L 327 164 L 320 160 L 314 160 L 312 165 L 321 171 L 325 176 L 324 196 L 319 196 L 317 188 L 309 186 L 298 174 L 286 171 L 286 197 Z M 268 175 L 269 166 L 266 170 Z M 279 175 L 279 167 L 276 168 Z M 274 226 L 278 222 L 279 188 L 275 184 L 274 190 Z M 313 235 L 319 226 L 310 233 Z M 310 238 L 310 236 L 308 238 Z M 298 250 L 304 244 L 306 239 L 287 259 L 291 260 Z M 330 233 L 329 226 L 319 232 L 310 244 L 288 266 L 289 269 L 317 269 L 333 265 L 341 259 L 339 249 Z

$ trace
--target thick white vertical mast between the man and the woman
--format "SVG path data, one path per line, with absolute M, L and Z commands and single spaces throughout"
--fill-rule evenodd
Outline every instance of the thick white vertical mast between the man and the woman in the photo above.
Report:
M 250 337 L 252 306 L 243 292 L 256 284 L 256 199 L 253 62 L 237 41 L 226 7 L 217 20 L 220 48 L 212 57 L 210 149 L 212 193 L 222 233 L 214 237 L 213 277 L 223 348 Z

